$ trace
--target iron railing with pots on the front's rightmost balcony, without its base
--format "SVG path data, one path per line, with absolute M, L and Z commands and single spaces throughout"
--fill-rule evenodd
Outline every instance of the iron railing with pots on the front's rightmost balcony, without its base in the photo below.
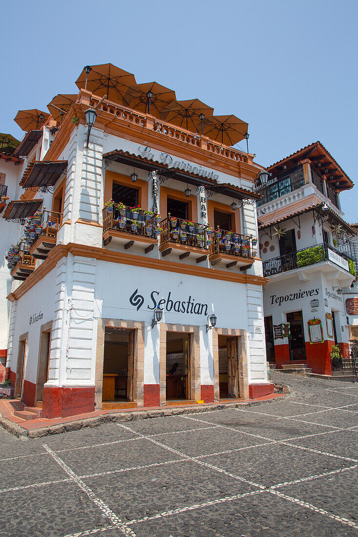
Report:
M 231 256 L 254 258 L 256 256 L 257 239 L 249 235 L 240 235 L 217 227 L 212 234 L 211 255 L 228 253 Z

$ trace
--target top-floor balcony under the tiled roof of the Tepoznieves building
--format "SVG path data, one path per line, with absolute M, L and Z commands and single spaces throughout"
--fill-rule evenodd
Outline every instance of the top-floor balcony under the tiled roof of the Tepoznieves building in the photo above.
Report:
M 259 188 L 257 192 L 262 195 L 260 200 L 257 200 L 257 207 L 267 204 L 270 201 L 274 201 L 277 198 L 281 198 L 294 190 L 298 190 L 305 184 L 303 166 L 299 164 L 295 168 L 288 170 L 285 173 L 281 173 L 272 182 L 269 182 L 267 186 Z

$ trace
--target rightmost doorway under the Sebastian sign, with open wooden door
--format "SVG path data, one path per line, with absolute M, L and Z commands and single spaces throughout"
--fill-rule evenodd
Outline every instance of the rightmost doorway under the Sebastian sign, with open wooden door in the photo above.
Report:
M 238 337 L 218 336 L 219 397 L 240 397 Z

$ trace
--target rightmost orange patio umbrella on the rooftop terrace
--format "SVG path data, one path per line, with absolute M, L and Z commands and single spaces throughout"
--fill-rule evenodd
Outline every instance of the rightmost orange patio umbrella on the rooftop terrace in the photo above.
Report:
M 247 129 L 248 124 L 235 115 L 214 115 L 205 121 L 204 134 L 211 140 L 234 146 L 245 138 Z

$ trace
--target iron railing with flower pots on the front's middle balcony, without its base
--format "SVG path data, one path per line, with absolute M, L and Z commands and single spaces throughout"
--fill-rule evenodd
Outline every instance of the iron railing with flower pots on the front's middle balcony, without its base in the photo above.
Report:
M 203 250 L 210 248 L 212 237 L 209 226 L 182 218 L 171 217 L 169 214 L 167 218 L 161 221 L 160 227 L 160 244 L 174 242 L 194 246 L 195 248 L 202 248 Z

